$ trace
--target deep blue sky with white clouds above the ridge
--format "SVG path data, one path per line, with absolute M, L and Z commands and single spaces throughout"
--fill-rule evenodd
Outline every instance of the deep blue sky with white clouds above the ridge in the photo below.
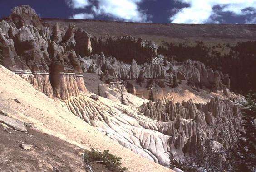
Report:
M 0 0 L 0 17 L 30 5 L 41 18 L 256 24 L 256 0 Z

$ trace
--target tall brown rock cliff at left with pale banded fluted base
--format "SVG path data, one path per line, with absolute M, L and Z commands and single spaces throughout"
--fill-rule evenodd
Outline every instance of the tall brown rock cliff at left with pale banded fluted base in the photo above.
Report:
M 34 9 L 15 7 L 8 20 L 0 22 L 1 64 L 49 97 L 67 99 L 79 95 L 79 90 L 86 92 L 80 56 L 74 52 L 74 25 L 64 32 L 57 23 L 52 30 L 51 35 Z M 86 33 L 77 39 L 84 35 L 89 46 Z

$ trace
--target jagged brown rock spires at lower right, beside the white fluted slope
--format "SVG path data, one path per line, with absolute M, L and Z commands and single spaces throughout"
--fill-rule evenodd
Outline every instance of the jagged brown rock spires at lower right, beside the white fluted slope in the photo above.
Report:
M 161 101 L 155 104 L 149 102 L 140 107 L 140 112 L 158 121 L 166 121 L 167 123 L 154 127 L 141 124 L 145 128 L 158 130 L 166 135 L 176 135 L 179 141 L 178 144 L 177 140 L 173 141 L 174 147 L 182 149 L 185 154 L 194 153 L 197 145 L 204 145 L 203 141 L 216 132 L 219 133 L 217 137 L 220 137 L 222 131 L 225 131 L 226 136 L 219 139 L 225 143 L 224 149 L 226 149 L 228 139 L 236 137 L 237 130 L 243 130 L 240 126 L 242 122 L 240 106 L 219 97 L 212 98 L 205 105 L 195 105 L 192 101 L 182 104 L 170 101 L 166 105 Z

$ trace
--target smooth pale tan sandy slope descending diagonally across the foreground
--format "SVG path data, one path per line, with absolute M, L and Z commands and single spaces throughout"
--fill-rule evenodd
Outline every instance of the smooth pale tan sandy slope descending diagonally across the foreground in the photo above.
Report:
M 14 101 L 18 99 L 21 104 Z M 171 171 L 153 161 L 141 158 L 123 148 L 94 127 L 71 114 L 63 102 L 37 91 L 18 75 L 0 65 L 0 109 L 21 121 L 30 122 L 44 133 L 64 139 L 81 148 L 90 147 L 122 157 L 123 166 L 131 172 Z

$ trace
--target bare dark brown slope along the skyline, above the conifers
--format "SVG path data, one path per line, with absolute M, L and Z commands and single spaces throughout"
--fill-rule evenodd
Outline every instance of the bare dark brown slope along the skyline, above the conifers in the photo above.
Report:
M 229 40 L 236 42 L 241 40 L 256 39 L 256 25 L 219 25 L 219 24 L 157 24 L 157 23 L 131 23 L 114 21 L 95 21 L 86 19 L 42 19 L 52 28 L 56 22 L 67 29 L 70 23 L 78 28 L 83 28 L 96 37 L 110 34 L 121 36 L 124 34 L 160 43 L 161 40 L 208 40 L 220 42 Z

